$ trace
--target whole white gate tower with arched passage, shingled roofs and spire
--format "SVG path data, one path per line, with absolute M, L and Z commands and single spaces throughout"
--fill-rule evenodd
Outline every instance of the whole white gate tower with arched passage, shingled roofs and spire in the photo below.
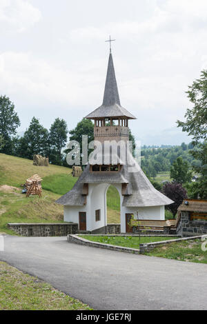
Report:
M 86 118 L 95 121 L 95 141 L 101 145 L 106 141 L 127 143 L 128 121 L 136 118 L 121 107 L 111 52 L 103 103 Z M 89 161 L 72 190 L 56 201 L 64 206 L 64 221 L 78 223 L 79 230 L 83 231 L 104 229 L 107 225 L 106 192 L 109 185 L 114 185 L 120 195 L 121 232 L 128 230 L 127 221 L 131 214 L 135 219 L 138 215 L 139 219 L 164 220 L 164 205 L 170 205 L 173 201 L 155 190 L 133 159 L 128 145 L 125 150 L 126 161 L 121 157 L 121 150 L 118 150 L 117 163 L 113 163 L 111 150 L 106 156 L 102 148 L 99 151 L 103 152 L 101 162 L 100 159 L 97 164 Z

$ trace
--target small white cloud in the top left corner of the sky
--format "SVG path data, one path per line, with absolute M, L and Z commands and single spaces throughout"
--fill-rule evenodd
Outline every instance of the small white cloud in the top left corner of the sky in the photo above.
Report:
M 40 10 L 27 0 L 0 1 L 0 28 L 3 32 L 23 32 L 40 19 Z

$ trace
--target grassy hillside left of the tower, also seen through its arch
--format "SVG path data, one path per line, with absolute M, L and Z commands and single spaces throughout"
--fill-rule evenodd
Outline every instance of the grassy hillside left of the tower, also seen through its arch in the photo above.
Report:
M 39 174 L 42 181 L 42 198 L 21 194 L 21 184 L 28 177 Z M 71 170 L 57 165 L 37 167 L 32 161 L 16 156 L 0 154 L 0 187 L 10 185 L 10 190 L 0 188 L 0 232 L 12 234 L 7 223 L 60 222 L 63 221 L 63 206 L 55 200 L 70 190 L 77 178 L 71 176 Z M 17 188 L 17 189 L 15 189 Z M 119 194 L 110 187 L 108 190 L 108 222 L 119 223 Z

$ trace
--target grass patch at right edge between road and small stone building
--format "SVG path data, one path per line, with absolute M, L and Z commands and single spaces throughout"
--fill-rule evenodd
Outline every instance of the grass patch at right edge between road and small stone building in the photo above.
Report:
M 200 240 L 170 243 L 163 247 L 156 247 L 154 250 L 146 253 L 146 255 L 179 261 L 207 263 L 207 251 L 201 250 L 201 243 Z

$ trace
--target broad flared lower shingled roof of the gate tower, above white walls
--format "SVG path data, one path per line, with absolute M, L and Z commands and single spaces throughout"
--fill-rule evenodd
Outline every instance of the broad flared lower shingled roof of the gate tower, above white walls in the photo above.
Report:
M 121 170 L 116 173 L 90 172 L 90 165 L 88 164 L 72 190 L 61 196 L 56 203 L 68 206 L 84 205 L 85 199 L 87 199 L 82 195 L 84 183 L 126 183 L 127 188 L 122 203 L 126 207 L 160 206 L 173 203 L 171 199 L 168 199 L 167 196 L 153 187 L 130 153 L 128 154 L 128 163 L 123 165 Z M 130 170 L 130 168 L 133 169 Z

